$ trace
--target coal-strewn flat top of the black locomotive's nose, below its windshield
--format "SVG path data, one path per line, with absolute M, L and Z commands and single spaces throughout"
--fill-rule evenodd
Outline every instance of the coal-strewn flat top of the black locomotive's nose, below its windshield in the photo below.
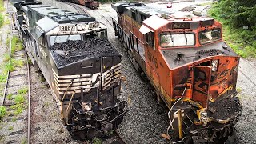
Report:
M 88 38 L 84 41 L 55 43 L 50 47 L 58 67 L 66 66 L 86 58 L 100 58 L 119 55 L 106 38 Z

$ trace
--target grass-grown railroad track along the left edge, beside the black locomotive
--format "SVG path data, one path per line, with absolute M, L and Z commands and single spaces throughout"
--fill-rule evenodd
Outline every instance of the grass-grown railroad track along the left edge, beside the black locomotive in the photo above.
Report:
M 9 6 L 8 6 L 9 5 Z M 1 143 L 30 143 L 30 70 L 26 50 L 18 42 L 12 18 L 14 10 L 6 4 L 10 15 L 10 52 L 6 62 L 6 85 L 1 106 L 6 110 L 1 119 Z M 14 42 L 15 41 L 15 42 Z M 15 44 L 15 45 L 14 45 Z

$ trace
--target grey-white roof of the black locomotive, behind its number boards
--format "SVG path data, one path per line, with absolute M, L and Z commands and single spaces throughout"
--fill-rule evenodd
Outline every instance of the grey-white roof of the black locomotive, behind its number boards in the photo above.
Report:
M 27 5 L 23 10 L 34 10 L 42 17 L 47 16 L 58 23 L 70 22 L 93 22 L 95 18 L 90 17 L 88 14 L 77 14 L 69 10 L 62 10 L 53 6 L 46 5 Z

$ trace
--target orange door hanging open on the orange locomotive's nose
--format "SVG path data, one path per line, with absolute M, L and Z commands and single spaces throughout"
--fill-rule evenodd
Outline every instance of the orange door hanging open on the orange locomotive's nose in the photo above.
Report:
M 210 66 L 194 66 L 194 82 L 192 99 L 201 102 L 206 108 L 209 97 L 211 67 Z

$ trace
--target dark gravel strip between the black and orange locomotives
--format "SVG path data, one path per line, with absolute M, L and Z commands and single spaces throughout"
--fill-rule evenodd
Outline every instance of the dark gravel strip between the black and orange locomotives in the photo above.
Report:
M 161 138 L 161 134 L 166 133 L 169 124 L 166 111 L 158 105 L 154 94 L 148 90 L 149 86 L 139 78 L 122 49 L 121 42 L 114 37 L 113 27 L 105 18 L 102 18 L 104 15 L 110 21 L 110 11 L 110 9 L 102 9 L 101 6 L 99 10 L 88 10 L 88 13 L 106 24 L 110 42 L 122 54 L 121 70 L 122 75 L 127 79 L 122 84 L 122 91 L 126 94 L 130 111 L 118 130 L 127 143 L 167 143 L 166 139 Z

